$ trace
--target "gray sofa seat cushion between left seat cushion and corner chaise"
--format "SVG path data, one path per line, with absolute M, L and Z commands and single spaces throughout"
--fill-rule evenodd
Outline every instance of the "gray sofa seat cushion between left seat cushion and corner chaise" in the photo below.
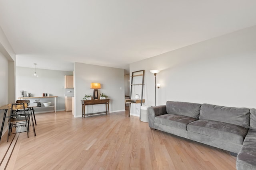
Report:
M 243 144 L 244 137 L 248 131 L 248 129 L 238 125 L 212 120 L 191 122 L 188 124 L 187 130 L 240 145 Z

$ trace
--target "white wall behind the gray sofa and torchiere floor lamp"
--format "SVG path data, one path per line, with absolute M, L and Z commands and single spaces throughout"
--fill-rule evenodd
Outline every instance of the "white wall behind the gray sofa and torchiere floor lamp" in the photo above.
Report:
M 167 100 L 256 108 L 256 26 L 130 64 L 145 70 L 145 105 Z M 132 112 L 136 114 L 135 109 Z

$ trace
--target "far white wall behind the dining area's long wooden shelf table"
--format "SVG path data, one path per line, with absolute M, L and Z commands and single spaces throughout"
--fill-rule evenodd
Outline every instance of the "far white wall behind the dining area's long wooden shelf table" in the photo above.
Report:
M 73 75 L 70 71 L 46 70 L 36 68 L 38 77 L 32 76 L 34 68 L 16 67 L 16 94 L 17 100 L 20 97 L 20 90 L 24 90 L 24 96 L 31 93 L 33 97 L 40 97 L 42 93 L 49 93 L 50 96 L 58 96 L 56 99 L 56 109 L 61 111 L 65 109 L 64 100 L 64 76 Z M 30 99 L 35 102 L 35 99 Z M 40 99 L 40 102 L 53 102 L 53 98 Z M 51 107 L 35 108 L 36 113 L 53 111 Z

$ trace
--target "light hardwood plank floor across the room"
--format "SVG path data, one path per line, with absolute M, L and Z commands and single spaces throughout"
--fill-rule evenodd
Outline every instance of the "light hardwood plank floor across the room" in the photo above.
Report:
M 6 134 L 0 169 L 7 170 L 235 170 L 236 157 L 207 145 L 152 131 L 125 112 L 74 118 L 71 112 L 36 114 L 33 131 Z M 13 139 L 13 140 L 12 140 Z

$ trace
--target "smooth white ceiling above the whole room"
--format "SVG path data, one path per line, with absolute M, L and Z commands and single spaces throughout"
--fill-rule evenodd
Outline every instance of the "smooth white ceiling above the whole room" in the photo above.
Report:
M 0 0 L 17 66 L 129 63 L 256 25 L 255 0 Z

